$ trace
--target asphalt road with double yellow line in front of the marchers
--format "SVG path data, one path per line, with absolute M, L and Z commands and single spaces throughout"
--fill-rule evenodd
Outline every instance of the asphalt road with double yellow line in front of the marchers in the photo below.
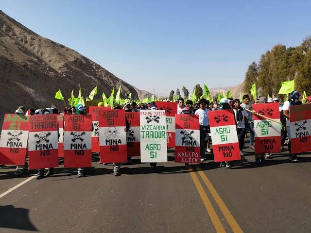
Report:
M 310 233 L 311 154 L 293 164 L 283 152 L 255 166 L 245 151 L 219 168 L 211 157 L 176 164 L 170 150 L 156 170 L 134 158 L 120 177 L 96 156 L 83 178 L 60 166 L 27 181 L 35 171 L 15 178 L 13 166 L 0 166 L 0 233 Z

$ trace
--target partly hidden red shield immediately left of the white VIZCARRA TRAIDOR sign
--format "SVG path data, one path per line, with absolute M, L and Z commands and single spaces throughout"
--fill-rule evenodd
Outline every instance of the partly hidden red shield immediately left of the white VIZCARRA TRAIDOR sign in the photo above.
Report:
M 127 157 L 140 156 L 139 113 L 126 112 L 125 117 L 130 123 L 130 130 L 126 132 Z

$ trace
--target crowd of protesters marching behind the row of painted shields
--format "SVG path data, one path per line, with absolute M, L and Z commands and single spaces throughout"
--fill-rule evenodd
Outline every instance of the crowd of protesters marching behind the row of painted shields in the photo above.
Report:
M 289 115 L 289 108 L 294 105 L 302 104 L 299 100 L 300 95 L 297 91 L 293 91 L 290 94 L 289 100 L 285 101 L 283 105 L 279 104 L 279 111 L 280 111 L 280 119 L 282 123 L 281 129 L 281 149 L 284 149 L 284 146 L 287 145 L 289 150 L 289 159 L 293 162 L 299 162 L 296 154 L 291 153 L 291 136 L 290 136 L 290 115 Z M 266 98 L 260 97 L 259 99 L 255 100 L 255 104 L 262 104 L 267 102 L 276 102 L 279 103 L 277 98 Z M 311 103 L 311 97 L 307 97 L 305 102 L 307 104 Z M 99 103 L 98 106 L 103 106 L 103 103 Z M 128 102 L 121 105 L 115 105 L 114 109 L 121 109 L 123 108 L 125 112 L 139 112 L 141 110 L 157 110 L 157 106 L 155 101 L 148 102 L 148 103 L 140 103 L 137 104 L 136 102 Z M 208 120 L 208 112 L 215 111 L 215 110 L 226 110 L 232 109 L 234 114 L 234 119 L 236 123 L 236 130 L 238 134 L 239 140 L 239 148 L 240 154 L 243 158 L 243 149 L 245 149 L 245 135 L 249 133 L 249 149 L 255 150 L 254 146 L 254 120 L 253 114 L 256 114 L 256 111 L 252 108 L 252 103 L 250 102 L 250 97 L 248 95 L 244 95 L 242 97 L 242 102 L 239 99 L 232 99 L 232 98 L 222 98 L 220 101 L 209 102 L 209 100 L 201 99 L 197 103 L 193 103 L 191 100 L 185 100 L 183 98 L 179 98 L 177 101 L 177 114 L 195 114 L 199 116 L 199 124 L 200 124 L 200 160 L 204 162 L 207 160 L 207 153 L 211 153 L 212 149 L 210 148 L 211 144 L 211 137 L 210 137 L 210 127 L 209 127 L 209 120 Z M 250 111 L 246 111 L 246 109 Z M 45 109 L 29 109 L 25 111 L 23 106 L 20 106 L 15 111 L 17 115 L 46 115 L 46 114 L 62 114 L 62 115 L 70 115 L 70 114 L 81 114 L 86 115 L 86 107 L 82 104 L 77 104 L 76 106 L 64 108 L 63 112 L 59 112 L 56 108 L 45 108 Z M 66 127 L 66 126 L 64 126 Z M 125 132 L 129 130 L 130 124 L 126 120 L 126 128 L 124 129 Z M 93 125 L 92 125 L 93 130 Z M 288 138 L 288 143 L 285 144 L 286 138 Z M 207 153 L 206 153 L 207 152 Z M 271 159 L 273 156 L 271 153 L 265 154 L 255 154 L 255 162 L 257 165 L 261 165 L 266 163 L 266 159 Z M 107 164 L 104 164 L 107 165 Z M 188 164 L 185 164 L 188 166 Z M 150 163 L 150 166 L 156 168 L 156 163 Z M 222 162 L 220 166 L 226 166 L 228 168 L 232 167 L 230 162 Z M 115 176 L 120 176 L 120 163 L 113 163 L 113 170 Z M 15 174 L 17 176 L 22 175 L 27 170 L 27 161 L 25 161 L 24 166 L 17 166 Z M 78 176 L 84 176 L 84 169 L 82 167 L 78 167 Z M 37 179 L 42 179 L 45 176 L 51 176 L 54 170 L 53 167 L 47 169 L 45 173 L 45 169 L 39 169 L 37 173 Z

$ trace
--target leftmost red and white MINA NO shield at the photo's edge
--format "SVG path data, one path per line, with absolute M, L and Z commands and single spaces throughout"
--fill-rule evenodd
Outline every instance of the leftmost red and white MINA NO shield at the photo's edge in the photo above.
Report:
M 4 115 L 0 138 L 0 164 L 25 164 L 28 129 L 28 116 Z

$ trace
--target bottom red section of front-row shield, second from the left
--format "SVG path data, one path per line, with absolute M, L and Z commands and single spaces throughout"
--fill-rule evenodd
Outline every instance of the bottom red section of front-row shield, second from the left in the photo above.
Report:
M 58 166 L 58 149 L 28 151 L 29 169 Z

